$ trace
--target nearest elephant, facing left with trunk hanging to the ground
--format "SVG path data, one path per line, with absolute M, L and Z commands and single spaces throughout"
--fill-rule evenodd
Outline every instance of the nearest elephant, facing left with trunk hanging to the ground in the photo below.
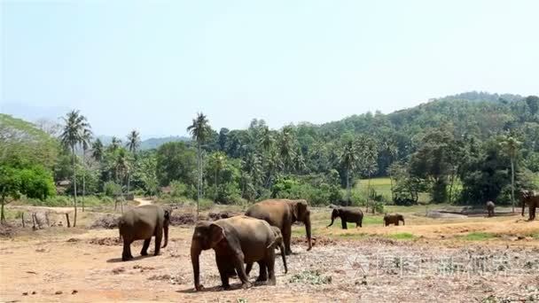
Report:
M 243 288 L 251 287 L 244 264 L 257 262 L 260 275 L 256 281 L 275 285 L 276 236 L 269 223 L 263 220 L 238 215 L 217 221 L 199 221 L 191 240 L 191 263 L 195 290 L 204 288 L 200 284 L 199 255 L 214 249 L 215 261 L 221 276 L 222 287 L 230 288 L 229 277 L 236 270 Z M 269 276 L 269 279 L 268 279 Z

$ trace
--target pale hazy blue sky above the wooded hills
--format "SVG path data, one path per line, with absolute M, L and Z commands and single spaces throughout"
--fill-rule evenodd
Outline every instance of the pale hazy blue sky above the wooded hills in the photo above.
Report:
M 539 94 L 539 1 L 0 0 L 0 111 L 96 134 L 339 120 L 469 90 Z

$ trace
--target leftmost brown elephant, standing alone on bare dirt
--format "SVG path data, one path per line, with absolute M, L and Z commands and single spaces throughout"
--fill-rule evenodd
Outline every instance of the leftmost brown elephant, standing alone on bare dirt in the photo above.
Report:
M 154 255 L 159 255 L 161 240 L 163 238 L 163 230 L 165 234 L 164 247 L 168 245 L 168 225 L 170 224 L 170 211 L 163 209 L 160 206 L 138 206 L 130 209 L 125 214 L 121 215 L 118 220 L 118 229 L 120 236 L 123 239 L 123 253 L 121 260 L 131 260 L 131 243 L 136 240 L 145 240 L 142 246 L 141 255 L 148 254 L 148 247 L 155 237 Z

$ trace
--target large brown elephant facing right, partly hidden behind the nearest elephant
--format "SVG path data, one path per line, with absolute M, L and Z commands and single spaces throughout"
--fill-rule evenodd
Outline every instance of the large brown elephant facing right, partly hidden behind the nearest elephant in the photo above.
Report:
M 309 241 L 310 251 L 312 249 L 311 234 L 310 234 L 310 212 L 309 205 L 306 200 L 289 200 L 289 199 L 269 199 L 255 203 L 246 211 L 249 217 L 262 219 L 267 221 L 271 226 L 276 226 L 281 229 L 283 239 L 285 240 L 285 254 L 292 253 L 290 248 L 290 238 L 292 237 L 292 223 L 301 221 L 305 224 L 305 232 Z

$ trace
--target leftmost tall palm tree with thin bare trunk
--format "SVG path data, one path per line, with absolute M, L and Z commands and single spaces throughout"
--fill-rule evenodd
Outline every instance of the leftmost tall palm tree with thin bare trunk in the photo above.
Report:
M 74 148 L 82 142 L 84 133 L 90 131 L 90 124 L 79 111 L 71 111 L 66 114 L 64 128 L 60 134 L 61 144 L 71 151 L 73 155 L 73 187 L 74 187 L 74 221 L 73 227 L 77 225 L 77 179 L 76 179 L 76 154 Z

